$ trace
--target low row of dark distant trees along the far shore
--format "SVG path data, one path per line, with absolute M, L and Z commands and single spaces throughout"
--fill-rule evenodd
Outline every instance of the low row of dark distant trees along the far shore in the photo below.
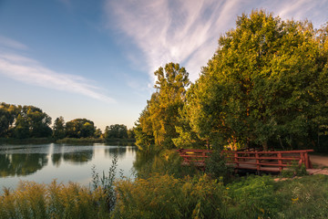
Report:
M 34 106 L 15 106 L 0 104 L 0 138 L 31 139 L 53 138 L 95 138 L 104 140 L 134 139 L 134 130 L 123 124 L 106 127 L 104 133 L 97 129 L 92 120 L 75 119 L 65 122 L 63 117 L 56 118 L 53 127 L 51 118 L 43 110 Z

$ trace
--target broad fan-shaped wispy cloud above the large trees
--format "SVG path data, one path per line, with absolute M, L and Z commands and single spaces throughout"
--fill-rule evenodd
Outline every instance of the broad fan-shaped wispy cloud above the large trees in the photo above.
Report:
M 282 18 L 311 20 L 327 18 L 327 5 L 327 0 L 108 0 L 105 8 L 108 20 L 115 20 L 143 52 L 150 76 L 173 61 L 185 66 L 195 80 L 213 56 L 220 35 L 234 27 L 242 13 L 263 8 Z

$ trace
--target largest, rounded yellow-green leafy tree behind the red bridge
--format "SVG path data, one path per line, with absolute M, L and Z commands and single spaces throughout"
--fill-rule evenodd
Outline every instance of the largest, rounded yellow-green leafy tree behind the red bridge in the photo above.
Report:
M 327 124 L 326 62 L 311 23 L 239 16 L 189 90 L 190 127 L 234 148 L 301 145 Z

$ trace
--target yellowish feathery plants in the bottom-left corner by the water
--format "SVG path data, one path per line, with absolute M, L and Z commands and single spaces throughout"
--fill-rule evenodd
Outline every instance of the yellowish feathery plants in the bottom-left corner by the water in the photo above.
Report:
M 91 192 L 77 183 L 21 182 L 0 196 L 0 218 L 105 218 L 108 209 L 102 189 Z

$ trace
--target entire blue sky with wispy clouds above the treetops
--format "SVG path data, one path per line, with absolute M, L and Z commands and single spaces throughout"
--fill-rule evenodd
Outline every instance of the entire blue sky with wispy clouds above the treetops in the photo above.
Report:
M 0 102 L 132 128 L 154 71 L 179 63 L 194 82 L 253 9 L 328 22 L 328 0 L 0 0 Z

